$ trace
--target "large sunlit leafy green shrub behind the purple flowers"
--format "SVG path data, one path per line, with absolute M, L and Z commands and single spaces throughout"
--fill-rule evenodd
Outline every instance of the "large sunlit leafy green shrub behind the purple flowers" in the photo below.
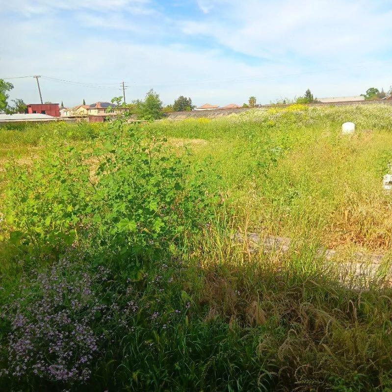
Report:
M 210 219 L 217 200 L 206 167 L 188 156 L 118 120 L 83 147 L 52 146 L 32 168 L 10 165 L 10 239 L 35 256 L 71 244 L 127 256 L 167 249 Z

